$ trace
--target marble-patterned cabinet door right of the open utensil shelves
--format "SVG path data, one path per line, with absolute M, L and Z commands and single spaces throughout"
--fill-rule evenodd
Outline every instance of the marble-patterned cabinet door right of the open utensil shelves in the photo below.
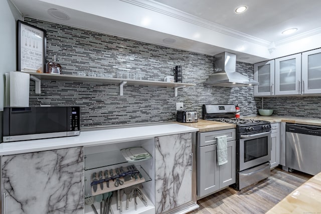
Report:
M 176 213 L 185 204 L 196 204 L 192 173 L 193 135 L 195 133 L 155 137 L 156 213 Z

